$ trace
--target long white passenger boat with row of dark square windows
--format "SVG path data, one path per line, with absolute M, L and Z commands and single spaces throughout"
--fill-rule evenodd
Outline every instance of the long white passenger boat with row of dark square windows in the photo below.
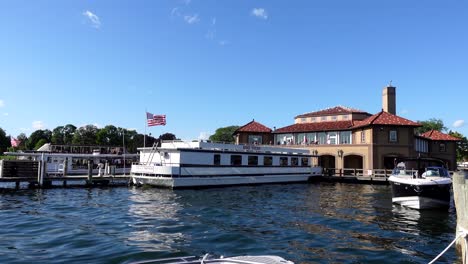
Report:
M 308 149 L 170 141 L 140 148 L 135 184 L 168 188 L 306 182 L 321 176 Z

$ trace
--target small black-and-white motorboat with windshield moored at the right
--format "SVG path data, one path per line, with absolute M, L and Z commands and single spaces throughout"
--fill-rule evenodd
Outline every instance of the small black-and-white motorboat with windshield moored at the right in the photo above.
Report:
M 443 162 L 431 158 L 405 158 L 388 178 L 392 202 L 413 209 L 450 207 L 452 179 Z

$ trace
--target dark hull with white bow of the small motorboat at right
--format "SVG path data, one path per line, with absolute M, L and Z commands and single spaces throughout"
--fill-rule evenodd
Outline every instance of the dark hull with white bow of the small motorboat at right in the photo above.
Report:
M 392 202 L 413 209 L 450 207 L 451 183 L 409 184 L 392 181 Z

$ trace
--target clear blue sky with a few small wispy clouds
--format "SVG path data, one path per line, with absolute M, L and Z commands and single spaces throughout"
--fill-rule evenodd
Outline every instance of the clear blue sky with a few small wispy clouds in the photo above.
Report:
M 468 135 L 464 1 L 0 0 L 0 127 L 182 139 L 337 105 L 442 119 Z

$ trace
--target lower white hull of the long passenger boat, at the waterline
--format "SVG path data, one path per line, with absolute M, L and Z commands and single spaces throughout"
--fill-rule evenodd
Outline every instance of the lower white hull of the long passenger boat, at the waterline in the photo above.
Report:
M 163 177 L 163 176 L 138 176 L 133 175 L 133 183 L 148 184 L 166 188 L 191 188 L 191 187 L 210 187 L 210 186 L 232 186 L 232 185 L 251 185 L 267 183 L 292 183 L 307 182 L 310 174 L 300 175 L 263 175 L 263 176 L 210 176 L 210 177 Z

